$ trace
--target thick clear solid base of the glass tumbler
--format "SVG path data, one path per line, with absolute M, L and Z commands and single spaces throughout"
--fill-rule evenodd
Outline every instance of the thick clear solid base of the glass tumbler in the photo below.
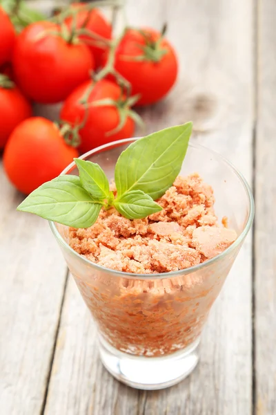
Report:
M 116 379 L 136 389 L 164 389 L 186 378 L 199 361 L 199 339 L 168 356 L 146 358 L 132 356 L 112 347 L 99 335 L 103 366 Z

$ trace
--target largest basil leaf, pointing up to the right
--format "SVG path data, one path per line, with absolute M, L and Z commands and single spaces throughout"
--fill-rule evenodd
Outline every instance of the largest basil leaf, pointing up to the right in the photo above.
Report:
M 115 167 L 118 196 L 142 190 L 153 200 L 161 197 L 180 172 L 192 127 L 186 122 L 132 142 Z

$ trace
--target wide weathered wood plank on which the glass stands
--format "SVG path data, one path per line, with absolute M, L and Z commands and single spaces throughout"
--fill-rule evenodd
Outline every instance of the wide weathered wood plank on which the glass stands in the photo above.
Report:
M 195 140 L 233 160 L 251 181 L 253 1 L 130 0 L 127 15 L 131 24 L 155 28 L 168 21 L 179 55 L 175 90 L 141 111 L 148 132 L 192 119 Z M 211 312 L 199 367 L 164 391 L 135 391 L 102 369 L 94 325 L 71 281 L 46 414 L 251 414 L 250 255 L 248 237 Z

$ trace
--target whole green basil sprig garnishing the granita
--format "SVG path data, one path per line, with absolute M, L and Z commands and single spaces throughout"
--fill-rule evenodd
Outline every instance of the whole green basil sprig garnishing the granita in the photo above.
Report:
M 89 228 L 101 208 L 111 206 L 128 219 L 160 212 L 155 200 L 179 174 L 192 127 L 192 122 L 187 122 L 132 142 L 115 166 L 116 198 L 99 165 L 75 158 L 79 177 L 63 175 L 44 183 L 17 210 L 74 228 Z

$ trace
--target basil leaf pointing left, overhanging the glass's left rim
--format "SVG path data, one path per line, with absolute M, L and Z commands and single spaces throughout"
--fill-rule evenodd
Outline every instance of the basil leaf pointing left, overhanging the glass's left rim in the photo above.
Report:
M 88 228 L 97 220 L 101 207 L 81 187 L 79 177 L 65 175 L 38 187 L 17 210 L 74 228 Z

